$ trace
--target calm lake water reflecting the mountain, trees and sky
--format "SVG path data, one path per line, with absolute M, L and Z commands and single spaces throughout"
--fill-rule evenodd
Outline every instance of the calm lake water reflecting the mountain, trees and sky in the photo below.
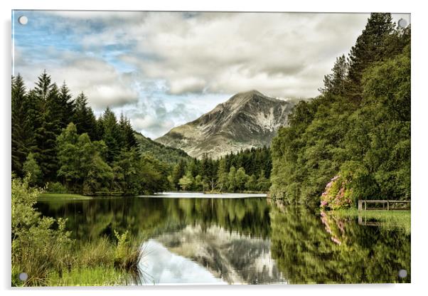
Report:
M 43 201 L 77 240 L 128 230 L 147 284 L 410 282 L 410 233 L 269 205 L 264 197 L 167 194 Z M 225 197 L 225 198 L 222 198 Z M 401 279 L 398 270 L 408 276 Z

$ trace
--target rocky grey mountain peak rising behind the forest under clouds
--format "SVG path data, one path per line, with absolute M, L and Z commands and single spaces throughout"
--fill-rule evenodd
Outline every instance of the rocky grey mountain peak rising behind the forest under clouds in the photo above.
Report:
M 218 158 L 240 149 L 269 145 L 279 127 L 288 125 L 294 102 L 257 90 L 237 93 L 193 122 L 174 127 L 156 142 L 183 149 L 191 157 Z

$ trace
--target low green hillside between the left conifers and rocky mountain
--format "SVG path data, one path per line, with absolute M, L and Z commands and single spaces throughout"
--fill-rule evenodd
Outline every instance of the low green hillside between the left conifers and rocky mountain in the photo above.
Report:
M 176 164 L 180 159 L 190 159 L 191 157 L 181 149 L 166 147 L 164 144 L 154 142 L 148 137 L 144 137 L 139 132 L 135 132 L 135 139 L 141 153 L 149 153 L 163 162 Z

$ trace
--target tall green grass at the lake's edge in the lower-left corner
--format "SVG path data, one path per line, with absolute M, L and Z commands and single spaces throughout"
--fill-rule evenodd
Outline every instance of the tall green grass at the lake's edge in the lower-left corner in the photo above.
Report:
M 106 237 L 75 243 L 73 248 L 56 244 L 60 252 L 53 252 L 54 258 L 38 258 L 38 252 L 34 252 L 21 264 L 13 263 L 12 286 L 127 285 L 137 282 L 142 275 L 142 250 L 127 233 L 120 235 L 117 243 Z M 25 282 L 18 280 L 22 270 L 31 270 Z

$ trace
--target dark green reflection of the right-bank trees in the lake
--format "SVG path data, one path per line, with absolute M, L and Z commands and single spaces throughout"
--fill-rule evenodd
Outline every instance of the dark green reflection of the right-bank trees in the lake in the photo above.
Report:
M 271 251 L 291 284 L 410 282 L 410 236 L 357 217 L 287 206 L 271 211 Z M 409 275 L 400 278 L 397 270 Z

